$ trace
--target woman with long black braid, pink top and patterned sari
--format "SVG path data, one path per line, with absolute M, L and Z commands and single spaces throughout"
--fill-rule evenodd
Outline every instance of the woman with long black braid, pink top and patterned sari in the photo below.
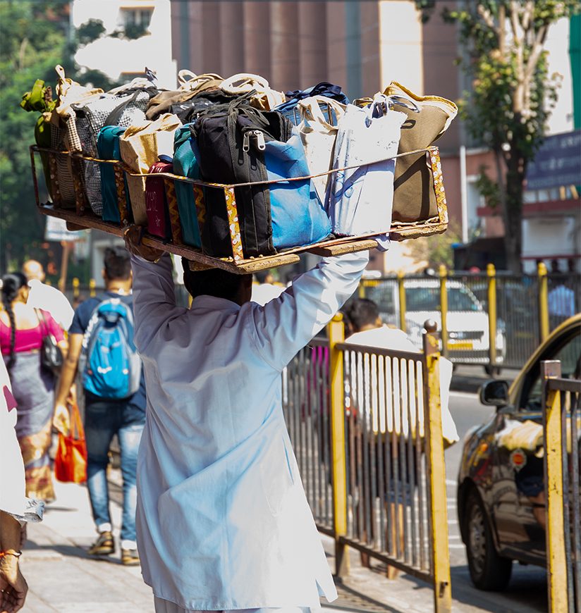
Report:
M 54 335 L 61 348 L 63 330 L 46 311 L 26 304 L 29 288 L 24 275 L 2 278 L 0 349 L 18 404 L 16 435 L 22 451 L 26 495 L 54 500 L 49 447 L 54 411 L 54 375 L 42 368 L 40 348 L 47 335 Z

